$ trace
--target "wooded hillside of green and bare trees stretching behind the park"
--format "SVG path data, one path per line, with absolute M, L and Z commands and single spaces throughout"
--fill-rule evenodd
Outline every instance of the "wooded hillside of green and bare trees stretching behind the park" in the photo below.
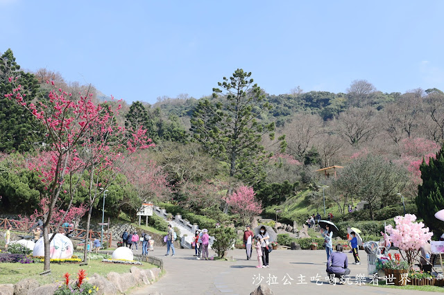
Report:
M 239 223 L 245 217 L 234 211 L 230 197 L 241 192 L 255 194 L 269 216 L 275 208 L 289 211 L 290 200 L 303 193 L 309 209 L 282 214 L 299 221 L 320 211 L 323 193 L 327 210 L 339 215 L 345 215 L 348 204 L 367 201 L 374 220 L 375 211 L 401 206 L 400 195 L 416 211 L 421 163 L 427 165 L 444 141 L 443 91 L 382 93 L 366 80 L 354 80 L 343 93 L 297 87 L 271 95 L 253 78 L 254 73 L 237 69 L 219 84 L 214 81 L 218 87 L 208 85 L 212 96 L 199 99 L 182 93 L 158 98 L 153 105 L 143 96 L 133 103 L 105 101 L 93 85 L 67 82 L 61 73 L 22 71 L 12 51 L 6 51 L 0 58 L 1 210 L 30 214 L 38 206 L 45 187 L 28 166 L 51 145 L 35 117 L 6 96 L 14 82 L 26 93 L 26 102 L 46 101 L 49 81 L 72 94 L 72 100 L 87 92 L 96 105 L 119 106 L 115 124 L 143 127 L 155 143 L 118 164 L 105 199 L 108 215 L 124 212 L 135 218 L 140 204 L 152 200 L 186 208 L 192 215 L 188 219 L 200 223 Z M 343 166 L 336 179 L 316 172 L 330 166 Z M 76 177 L 81 182 L 89 175 Z M 74 204 L 86 197 L 79 188 Z M 101 202 L 101 197 L 94 199 L 93 214 L 101 214 Z

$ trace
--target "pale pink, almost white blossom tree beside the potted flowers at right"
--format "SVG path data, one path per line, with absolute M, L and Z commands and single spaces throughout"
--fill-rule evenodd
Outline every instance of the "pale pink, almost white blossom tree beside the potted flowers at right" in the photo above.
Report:
M 420 248 L 423 247 L 428 240 L 432 238 L 433 233 L 429 232 L 429 228 L 425 227 L 422 222 L 415 222 L 416 215 L 406 214 L 405 216 L 395 217 L 395 228 L 388 224 L 386 232 L 388 238 L 393 243 L 393 246 L 405 252 L 406 257 L 402 255 L 404 260 L 407 260 L 410 266 L 410 271 L 413 271 L 413 262 L 416 260 Z

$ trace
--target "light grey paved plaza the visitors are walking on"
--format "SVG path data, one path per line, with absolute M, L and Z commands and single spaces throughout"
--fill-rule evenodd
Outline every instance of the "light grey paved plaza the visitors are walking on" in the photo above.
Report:
M 194 250 L 190 249 L 178 249 L 175 257 L 162 256 L 164 253 L 166 249 L 157 248 L 154 255 L 164 260 L 167 273 L 157 283 L 136 289 L 132 294 L 250 294 L 260 278 L 262 283 L 267 280 L 275 283 L 270 285 L 275 294 L 431 294 L 372 287 L 368 283 L 365 286 L 357 285 L 355 276 L 367 274 L 367 256 L 364 251 L 359 252 L 362 265 L 349 265 L 352 285 L 327 284 L 326 254 L 321 250 L 273 251 L 270 253 L 270 267 L 265 269 L 255 268 L 257 260 L 246 260 L 245 250 L 229 251 L 228 255 L 236 260 L 234 262 L 196 260 L 193 257 Z M 214 252 L 210 251 L 210 257 L 212 255 Z M 354 261 L 351 253 L 348 253 L 348 261 Z M 316 276 L 317 283 L 316 279 L 312 279 Z

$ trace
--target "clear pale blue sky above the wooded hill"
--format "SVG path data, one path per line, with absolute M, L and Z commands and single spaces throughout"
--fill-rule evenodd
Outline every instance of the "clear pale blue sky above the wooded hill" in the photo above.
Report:
M 0 0 L 0 52 L 127 102 L 200 98 L 251 71 L 268 93 L 444 90 L 444 1 Z

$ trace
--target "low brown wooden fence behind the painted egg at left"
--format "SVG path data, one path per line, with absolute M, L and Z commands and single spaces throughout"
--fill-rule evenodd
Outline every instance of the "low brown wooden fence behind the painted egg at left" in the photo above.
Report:
M 12 231 L 22 231 L 24 233 L 30 233 L 31 227 L 28 223 L 23 222 L 21 220 L 8 220 L 8 218 L 0 218 L 0 229 L 8 229 L 8 226 L 12 227 Z M 53 224 L 49 224 L 49 232 L 53 233 L 53 231 L 56 229 L 56 226 Z M 64 227 L 60 226 L 58 231 L 59 233 L 65 233 Z M 74 229 L 74 231 L 71 233 L 71 238 L 79 239 L 79 240 L 85 240 L 87 235 L 86 229 Z M 101 239 L 102 233 L 100 231 L 89 231 L 88 238 L 89 240 L 94 240 L 98 238 Z M 112 233 L 103 233 L 103 240 L 108 241 L 108 247 L 110 247 L 112 243 Z

